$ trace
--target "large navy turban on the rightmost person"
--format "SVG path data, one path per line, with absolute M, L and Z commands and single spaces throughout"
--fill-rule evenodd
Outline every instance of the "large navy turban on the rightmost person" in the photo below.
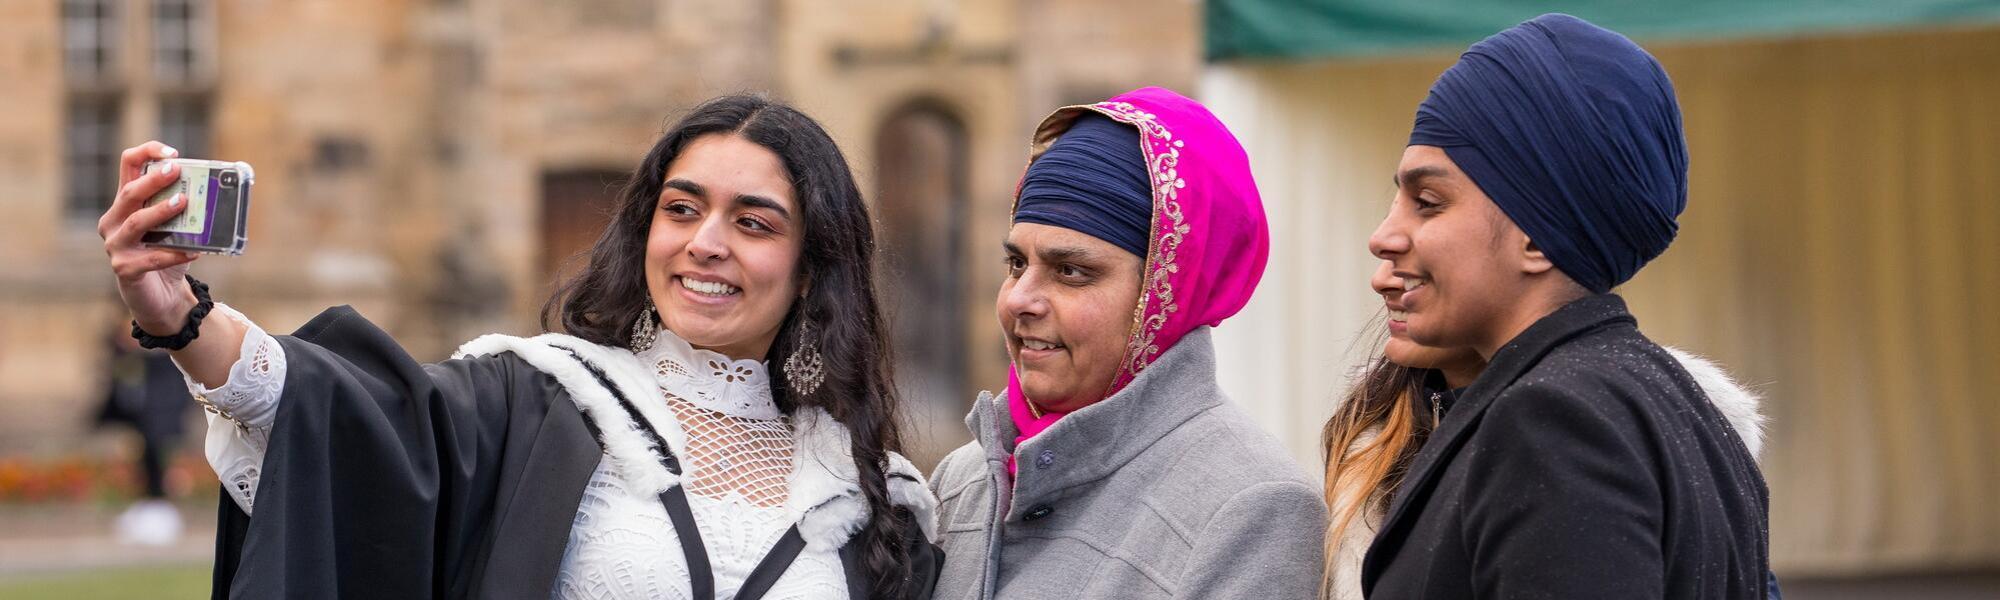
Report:
M 1568 14 L 1472 44 L 1416 108 L 1410 146 L 1444 148 L 1592 292 L 1666 252 L 1688 206 L 1674 82 L 1632 40 Z

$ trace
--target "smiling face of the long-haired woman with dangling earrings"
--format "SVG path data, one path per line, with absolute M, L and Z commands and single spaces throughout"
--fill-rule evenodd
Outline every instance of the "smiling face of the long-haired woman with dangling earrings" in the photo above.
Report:
M 778 154 L 734 134 L 666 166 L 646 236 L 646 292 L 696 348 L 762 360 L 800 294 L 798 200 Z

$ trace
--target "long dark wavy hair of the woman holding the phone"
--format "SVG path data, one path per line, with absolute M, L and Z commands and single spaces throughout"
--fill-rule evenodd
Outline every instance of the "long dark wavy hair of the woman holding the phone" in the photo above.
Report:
M 896 426 L 896 392 L 890 374 L 888 328 L 874 290 L 874 220 L 854 184 L 846 156 L 810 116 L 762 96 L 722 96 L 696 106 L 666 130 L 626 182 L 610 226 L 590 248 L 588 266 L 562 282 L 542 306 L 542 328 L 562 330 L 602 346 L 628 346 L 646 306 L 646 236 L 660 202 L 666 166 L 696 138 L 730 134 L 764 146 L 784 162 L 804 222 L 798 276 L 806 294 L 792 304 L 778 338 L 764 356 L 778 366 L 798 348 L 804 322 L 824 356 L 826 380 L 814 394 L 790 390 L 782 368 L 772 368 L 770 392 L 778 408 L 818 406 L 848 428 L 868 524 L 854 544 L 864 544 L 862 570 L 878 598 L 900 598 L 910 580 L 904 536 L 916 526 L 908 510 L 888 500 L 888 452 L 902 450 Z

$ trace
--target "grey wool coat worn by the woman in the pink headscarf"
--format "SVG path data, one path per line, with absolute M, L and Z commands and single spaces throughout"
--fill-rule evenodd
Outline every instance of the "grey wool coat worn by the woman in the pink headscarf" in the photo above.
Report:
M 1208 328 L 1020 452 L 1004 396 L 980 394 L 966 426 L 976 440 L 930 478 L 946 556 L 934 598 L 1318 592 L 1320 488 L 1222 396 Z

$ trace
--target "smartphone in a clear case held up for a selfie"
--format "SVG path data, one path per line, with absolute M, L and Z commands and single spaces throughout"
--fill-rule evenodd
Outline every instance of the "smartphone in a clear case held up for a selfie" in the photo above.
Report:
M 166 202 L 174 194 L 186 194 L 188 208 L 140 240 L 156 248 L 244 254 L 250 186 L 256 184 L 256 170 L 248 162 L 168 158 L 148 162 L 144 172 L 164 168 L 166 162 L 180 166 L 180 180 L 146 200 L 146 206 Z

